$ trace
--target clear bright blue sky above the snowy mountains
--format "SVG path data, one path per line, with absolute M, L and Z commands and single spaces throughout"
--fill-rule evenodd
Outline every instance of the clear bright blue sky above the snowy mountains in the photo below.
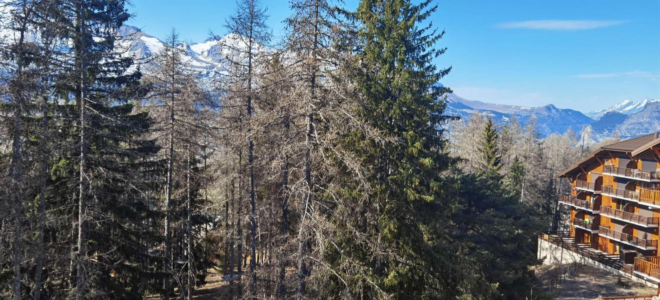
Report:
M 280 38 L 288 1 L 263 0 Z M 660 1 L 438 0 L 434 25 L 447 31 L 442 83 L 469 100 L 583 112 L 623 100 L 660 98 Z M 632 3 L 632 4 L 628 4 Z M 357 0 L 346 0 L 354 8 Z M 224 34 L 233 0 L 133 0 L 129 24 L 184 42 Z

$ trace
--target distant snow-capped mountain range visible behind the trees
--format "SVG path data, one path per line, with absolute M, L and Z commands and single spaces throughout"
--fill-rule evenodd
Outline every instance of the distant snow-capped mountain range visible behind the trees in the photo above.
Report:
M 129 49 L 125 55 L 137 59 L 148 61 L 149 57 L 164 47 L 164 43 L 158 38 L 133 26 L 123 26 L 120 34 L 129 38 L 124 45 Z M 232 51 L 232 48 L 240 47 L 239 39 L 239 36 L 232 34 L 224 36 L 221 39 L 222 44 L 230 47 L 221 47 L 215 40 L 195 44 L 179 43 L 178 47 L 187 53 L 183 59 L 188 62 L 191 69 L 198 71 L 205 78 L 214 78 L 226 72 L 223 57 L 230 53 L 228 51 Z M 475 111 L 489 115 L 496 122 L 508 122 L 511 117 L 515 117 L 523 125 L 533 117 L 542 137 L 552 133 L 564 133 L 569 128 L 579 132 L 587 125 L 593 127 L 595 138 L 611 136 L 614 132 L 627 138 L 660 131 L 660 100 L 642 102 L 626 100 L 621 104 L 584 114 L 573 109 L 558 108 L 552 104 L 540 107 L 490 104 L 467 100 L 456 94 L 447 95 L 447 99 L 449 101 L 446 113 L 466 120 Z

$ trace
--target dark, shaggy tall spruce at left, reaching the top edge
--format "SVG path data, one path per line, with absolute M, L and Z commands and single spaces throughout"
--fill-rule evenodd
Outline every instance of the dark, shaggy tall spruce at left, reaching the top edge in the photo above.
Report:
M 71 297 L 135 297 L 152 283 L 125 278 L 151 274 L 144 264 L 154 258 L 147 246 L 147 241 L 154 241 L 153 231 L 139 224 L 152 216 L 152 194 L 145 192 L 153 188 L 149 171 L 154 166 L 145 156 L 155 147 L 141 140 L 151 121 L 146 113 L 132 113 L 129 104 L 137 96 L 140 74 L 128 71 L 133 61 L 117 47 L 119 28 L 131 15 L 125 1 L 60 4 L 58 21 L 66 26 L 63 39 L 72 47 L 61 52 L 64 66 L 55 91 L 68 107 L 65 120 L 78 120 L 76 132 L 68 131 L 77 136 L 77 141 L 70 140 L 77 150 L 65 154 L 54 172 L 68 177 L 69 169 L 77 175 Z M 72 178 L 61 179 L 69 185 Z

